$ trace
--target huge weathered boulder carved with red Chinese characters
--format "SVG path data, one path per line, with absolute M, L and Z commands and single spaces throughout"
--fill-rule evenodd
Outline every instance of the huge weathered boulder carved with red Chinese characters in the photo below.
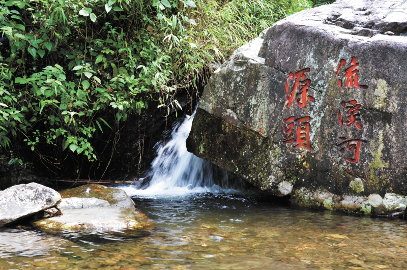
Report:
M 298 205 L 403 215 L 406 35 L 403 0 L 277 22 L 213 73 L 188 150 Z

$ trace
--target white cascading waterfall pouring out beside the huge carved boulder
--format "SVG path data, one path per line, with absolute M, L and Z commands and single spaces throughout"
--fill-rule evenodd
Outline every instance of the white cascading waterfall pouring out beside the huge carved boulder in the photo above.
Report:
M 147 185 L 120 187 L 130 196 L 186 195 L 201 192 L 236 192 L 246 184 L 238 177 L 229 176 L 226 170 L 200 159 L 187 151 L 185 141 L 191 130 L 192 116 L 185 116 L 171 132 L 170 139 L 160 142 L 157 157 L 146 175 Z M 233 179 L 230 179 L 230 178 Z M 231 181 L 232 180 L 232 181 Z M 142 188 L 140 188 L 143 186 Z

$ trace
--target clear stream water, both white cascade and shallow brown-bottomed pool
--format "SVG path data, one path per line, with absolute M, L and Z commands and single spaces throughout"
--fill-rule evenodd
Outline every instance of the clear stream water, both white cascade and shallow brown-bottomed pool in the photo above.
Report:
M 153 228 L 0 227 L 0 269 L 407 269 L 405 220 L 298 208 L 186 152 L 191 118 L 140 181 L 121 186 Z

